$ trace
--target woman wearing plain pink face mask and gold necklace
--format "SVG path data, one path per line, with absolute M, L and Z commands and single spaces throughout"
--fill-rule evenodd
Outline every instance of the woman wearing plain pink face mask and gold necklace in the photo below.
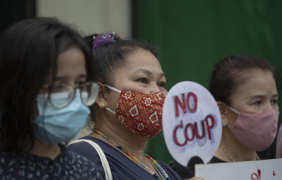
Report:
M 231 55 L 215 65 L 209 91 L 217 101 L 222 120 L 220 145 L 210 163 L 254 161 L 277 133 L 278 91 L 274 67 L 260 57 Z M 170 166 L 182 178 L 193 167 Z

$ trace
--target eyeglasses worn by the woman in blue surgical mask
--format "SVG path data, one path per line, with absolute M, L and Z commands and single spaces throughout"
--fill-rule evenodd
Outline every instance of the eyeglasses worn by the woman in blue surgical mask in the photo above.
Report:
M 57 109 L 66 107 L 73 100 L 75 92 L 80 94 L 81 102 L 85 106 L 91 106 L 95 103 L 99 87 L 99 84 L 95 82 L 87 82 L 75 86 L 70 84 L 43 85 L 43 88 L 49 90 L 48 99 L 51 105 Z M 76 89 L 80 91 L 75 91 Z

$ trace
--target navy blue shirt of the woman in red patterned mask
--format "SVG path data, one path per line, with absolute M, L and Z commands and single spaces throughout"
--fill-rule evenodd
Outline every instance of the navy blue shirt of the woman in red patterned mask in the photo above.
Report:
M 91 140 L 97 143 L 108 160 L 110 169 L 112 172 L 113 179 L 122 179 L 122 180 L 132 180 L 132 179 L 146 179 L 146 180 L 156 180 L 154 176 L 148 173 L 140 165 L 133 162 L 131 159 L 126 157 L 127 155 L 121 152 L 120 150 L 115 149 L 113 146 L 108 143 L 99 140 L 95 137 L 86 136 L 81 139 Z M 68 146 L 71 151 L 82 154 L 83 156 L 90 159 L 94 164 L 96 164 L 98 171 L 102 174 L 105 179 L 105 171 L 102 166 L 100 157 L 94 147 L 86 142 L 80 142 Z M 172 180 L 180 180 L 180 176 L 172 170 L 167 164 L 157 161 L 162 168 L 167 172 L 169 178 Z M 155 171 L 155 169 L 152 169 Z M 155 171 L 156 172 L 156 171 Z

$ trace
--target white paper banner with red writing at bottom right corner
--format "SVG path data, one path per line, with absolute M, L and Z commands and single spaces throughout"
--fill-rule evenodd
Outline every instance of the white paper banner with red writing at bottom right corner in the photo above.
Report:
M 281 180 L 282 159 L 196 164 L 195 176 L 205 180 Z

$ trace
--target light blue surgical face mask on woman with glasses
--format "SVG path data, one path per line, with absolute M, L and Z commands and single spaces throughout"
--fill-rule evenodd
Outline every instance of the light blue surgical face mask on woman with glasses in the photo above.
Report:
M 46 144 L 68 141 L 80 134 L 90 113 L 76 90 L 74 99 L 64 108 L 54 108 L 48 100 L 48 94 L 39 94 L 36 98 L 39 115 L 32 121 L 36 138 Z M 69 93 L 52 96 L 52 102 L 61 104 Z M 87 99 L 87 94 L 81 94 Z

